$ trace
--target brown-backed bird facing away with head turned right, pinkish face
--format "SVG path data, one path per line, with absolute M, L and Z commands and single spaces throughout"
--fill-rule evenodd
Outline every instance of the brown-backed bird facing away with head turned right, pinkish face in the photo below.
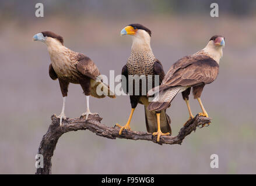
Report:
M 164 77 L 162 84 L 148 92 L 148 96 L 158 92 L 158 96 L 150 102 L 148 109 L 157 112 L 165 110 L 170 106 L 178 92 L 181 92 L 187 103 L 190 119 L 192 119 L 194 116 L 188 102 L 192 87 L 194 98 L 198 100 L 202 109 L 202 113 L 199 115 L 208 117 L 200 97 L 205 84 L 212 83 L 218 76 L 219 61 L 222 58 L 224 46 L 225 38 L 221 35 L 214 35 L 204 49 L 193 55 L 185 56 L 174 63 Z M 204 126 L 205 124 L 202 125 L 202 127 Z

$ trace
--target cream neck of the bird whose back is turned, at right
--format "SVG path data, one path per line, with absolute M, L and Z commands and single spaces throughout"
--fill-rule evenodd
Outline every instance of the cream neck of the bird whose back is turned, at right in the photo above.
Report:
M 208 53 L 208 55 L 219 64 L 220 58 L 222 58 L 223 55 L 222 48 L 222 46 L 216 46 L 213 41 L 209 41 L 202 51 Z

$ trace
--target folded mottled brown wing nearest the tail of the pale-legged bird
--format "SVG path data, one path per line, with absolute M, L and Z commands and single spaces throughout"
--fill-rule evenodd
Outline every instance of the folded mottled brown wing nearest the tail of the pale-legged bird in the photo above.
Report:
M 97 66 L 93 63 L 93 61 L 87 56 L 79 53 L 76 56 L 76 60 L 78 60 L 78 64 L 76 64 L 76 69 L 83 75 L 96 80 L 97 76 L 100 75 L 100 71 Z

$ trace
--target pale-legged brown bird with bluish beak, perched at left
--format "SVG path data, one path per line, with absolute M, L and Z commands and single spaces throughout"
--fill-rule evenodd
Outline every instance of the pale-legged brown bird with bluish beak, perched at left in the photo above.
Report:
M 95 98 L 104 98 L 106 95 L 110 98 L 115 98 L 108 85 L 102 83 L 100 71 L 94 62 L 86 55 L 66 48 L 64 40 L 60 35 L 51 31 L 42 31 L 34 35 L 33 41 L 42 41 L 47 45 L 51 58 L 49 75 L 52 80 L 57 80 L 57 78 L 59 80 L 63 96 L 61 115 L 58 116 L 60 125 L 62 125 L 62 119 L 66 119 L 64 110 L 69 83 L 80 84 L 86 95 L 87 110 L 85 113 L 82 113 L 82 116 L 86 116 L 86 120 L 89 115 L 97 115 L 97 113 L 90 112 L 89 95 Z M 100 86 L 99 89 L 97 89 L 98 85 Z

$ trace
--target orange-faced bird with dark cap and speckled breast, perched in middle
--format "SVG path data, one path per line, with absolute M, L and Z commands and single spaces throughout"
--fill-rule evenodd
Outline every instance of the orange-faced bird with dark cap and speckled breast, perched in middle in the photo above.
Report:
M 122 80 L 122 89 L 125 93 L 129 93 L 132 110 L 125 126 L 122 127 L 119 124 L 116 124 L 121 128 L 119 134 L 121 135 L 124 129 L 131 129 L 130 122 L 132 115 L 138 103 L 141 103 L 145 106 L 146 128 L 149 133 L 157 135 L 157 141 L 159 141 L 160 135 L 171 134 L 171 121 L 170 117 L 166 114 L 166 110 L 150 112 L 147 109 L 147 106 L 149 105 L 149 100 L 146 96 L 146 92 L 148 92 L 146 91 L 148 84 L 152 83 L 152 87 L 155 87 L 155 76 L 159 76 L 160 83 L 164 78 L 162 64 L 155 58 L 150 47 L 151 31 L 141 24 L 129 24 L 129 26 L 122 29 L 121 35 L 132 36 L 131 55 L 127 60 L 127 64 L 122 68 L 122 75 L 125 76 L 125 81 Z M 139 79 L 139 90 L 136 90 L 135 81 L 133 81 L 136 79 L 135 76 L 143 76 L 144 80 L 146 80 L 143 81 L 143 77 Z M 149 76 L 152 76 L 152 78 L 148 78 Z M 124 84 L 124 82 L 126 84 Z M 136 91 L 138 94 L 136 94 Z M 145 94 L 143 94 L 143 91 L 145 91 Z M 161 116 L 160 113 L 162 114 Z

